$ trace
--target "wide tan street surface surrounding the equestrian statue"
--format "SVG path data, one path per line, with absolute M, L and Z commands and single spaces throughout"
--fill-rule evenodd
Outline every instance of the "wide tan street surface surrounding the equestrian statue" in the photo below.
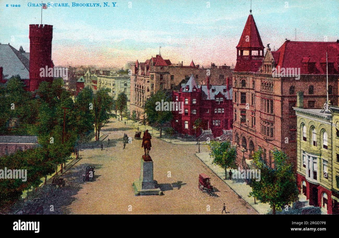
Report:
M 124 133 L 133 138 L 125 150 Z M 155 137 L 150 155 L 154 179 L 164 195 L 135 196 L 132 183 L 140 175 L 142 140 L 134 140 L 135 129 L 115 119 L 102 128 L 104 134 L 108 137 L 103 151 L 100 144 L 80 151 L 82 159 L 63 174 L 66 187 L 47 195 L 45 214 L 221 214 L 223 203 L 227 214 L 257 214 L 195 156 L 197 145 L 175 145 Z M 207 151 L 204 146 L 200 149 Z M 88 165 L 95 166 L 93 182 L 82 181 Z M 211 176 L 217 192 L 208 195 L 198 190 L 199 173 Z M 54 205 L 54 212 L 49 211 L 50 205 Z

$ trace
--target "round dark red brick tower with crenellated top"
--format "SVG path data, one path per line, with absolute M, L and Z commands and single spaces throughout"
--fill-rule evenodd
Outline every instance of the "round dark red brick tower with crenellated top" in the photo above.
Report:
M 40 82 L 53 81 L 53 77 L 40 77 L 40 68 L 53 67 L 52 37 L 52 25 L 29 25 L 29 91 L 31 92 L 38 89 Z

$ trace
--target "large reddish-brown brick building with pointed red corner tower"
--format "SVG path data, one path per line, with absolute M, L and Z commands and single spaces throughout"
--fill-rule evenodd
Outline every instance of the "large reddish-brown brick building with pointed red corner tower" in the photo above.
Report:
M 329 94 L 338 105 L 338 41 L 300 42 L 286 40 L 277 50 L 263 55 L 263 44 L 252 13 L 248 16 L 233 72 L 233 142 L 238 162 L 246 167 L 260 147 L 267 164 L 274 166 L 271 150 L 277 147 L 296 161 L 296 92 L 304 92 L 305 108 L 321 108 L 326 101 L 326 51 L 329 62 Z M 275 68 L 297 68 L 293 74 L 273 76 Z M 289 72 L 291 73 L 291 72 Z M 243 150 L 244 148 L 244 150 Z

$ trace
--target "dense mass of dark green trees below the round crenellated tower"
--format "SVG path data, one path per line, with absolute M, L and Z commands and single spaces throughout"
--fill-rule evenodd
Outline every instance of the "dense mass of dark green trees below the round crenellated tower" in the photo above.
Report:
M 0 207 L 14 202 L 22 191 L 32 186 L 37 187 L 42 178 L 51 175 L 58 164 L 69 158 L 79 136 L 93 131 L 94 119 L 89 110 L 93 98 L 91 91 L 84 89 L 73 103 L 70 94 L 62 87 L 61 78 L 55 79 L 53 83 L 40 83 L 35 97 L 24 91 L 23 87 L 19 77 L 12 77 L 6 85 L 0 87 L 0 110 L 5 113 L 4 117 L 0 117 L 0 133 L 38 135 L 39 146 L 0 158 L 1 168 L 27 169 L 28 173 L 27 181 L 0 179 Z M 106 99 L 99 94 L 99 105 L 105 104 L 105 99 L 102 98 Z M 9 111 L 11 103 L 15 104 L 15 110 Z M 63 107 L 68 109 L 62 143 Z M 103 118 L 101 109 L 97 109 L 99 119 Z M 14 126 L 11 126 L 11 121 Z

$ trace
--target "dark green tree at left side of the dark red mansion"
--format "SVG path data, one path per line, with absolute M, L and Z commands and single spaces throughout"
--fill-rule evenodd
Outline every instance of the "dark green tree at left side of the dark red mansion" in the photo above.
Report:
M 154 95 L 151 95 L 151 97 L 149 97 L 145 103 L 145 114 L 147 115 L 146 119 L 149 124 L 160 125 L 160 138 L 162 135 L 163 125 L 167 122 L 170 122 L 173 118 L 172 111 L 165 111 L 165 105 L 164 110 L 159 110 L 158 107 L 161 102 L 164 102 L 164 104 L 168 103 L 168 109 L 170 109 L 169 105 L 170 102 L 172 102 L 171 95 L 159 90 Z

